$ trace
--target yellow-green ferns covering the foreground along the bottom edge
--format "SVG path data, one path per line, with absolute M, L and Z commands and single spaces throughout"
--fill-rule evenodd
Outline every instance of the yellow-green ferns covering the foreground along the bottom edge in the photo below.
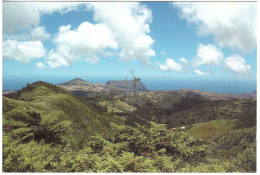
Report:
M 252 172 L 255 142 L 241 153 L 228 150 L 232 159 L 214 157 L 216 143 L 195 139 L 150 123 L 136 128 L 111 123 L 111 134 L 95 135 L 81 149 L 42 141 L 19 144 L 4 135 L 6 172 Z M 240 133 L 240 132 L 238 132 Z M 242 133 L 243 135 L 244 133 Z M 223 136 L 227 137 L 227 135 Z M 217 142 L 221 149 L 222 138 Z M 254 135 L 252 135 L 254 137 Z M 252 139 L 252 137 L 250 139 Z M 221 149 L 222 153 L 228 148 Z M 218 153 L 218 156 L 221 153 Z M 243 165 L 243 166 L 241 166 Z

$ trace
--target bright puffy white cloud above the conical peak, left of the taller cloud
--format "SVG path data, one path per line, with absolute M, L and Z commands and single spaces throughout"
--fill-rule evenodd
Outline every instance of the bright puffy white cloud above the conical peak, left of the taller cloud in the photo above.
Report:
M 70 28 L 70 25 L 60 27 L 54 39 L 58 49 L 67 45 L 73 55 L 95 55 L 106 48 L 117 49 L 118 47 L 113 33 L 106 25 L 84 22 L 76 30 Z

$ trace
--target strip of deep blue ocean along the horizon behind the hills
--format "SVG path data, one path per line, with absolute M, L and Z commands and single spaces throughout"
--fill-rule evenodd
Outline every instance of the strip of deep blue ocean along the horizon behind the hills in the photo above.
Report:
M 46 81 L 58 84 L 72 80 L 75 77 L 59 78 L 3 78 L 3 90 L 19 90 L 35 81 Z M 106 83 L 108 80 L 124 80 L 122 77 L 83 77 L 82 79 L 90 83 Z M 256 80 L 211 80 L 211 79 L 192 79 L 192 78 L 142 78 L 142 82 L 148 90 L 180 90 L 197 89 L 215 93 L 251 93 L 256 91 Z

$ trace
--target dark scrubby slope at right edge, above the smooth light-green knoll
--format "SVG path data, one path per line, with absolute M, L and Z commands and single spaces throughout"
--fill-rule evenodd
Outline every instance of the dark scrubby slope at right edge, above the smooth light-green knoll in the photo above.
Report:
M 173 113 L 169 127 L 191 125 L 218 119 L 239 119 L 245 127 L 256 125 L 256 99 L 214 100 Z

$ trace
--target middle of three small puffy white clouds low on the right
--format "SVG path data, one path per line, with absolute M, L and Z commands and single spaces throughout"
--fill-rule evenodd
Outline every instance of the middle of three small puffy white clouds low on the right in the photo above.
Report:
M 219 65 L 223 61 L 223 53 L 220 48 L 214 45 L 199 44 L 194 66 Z

